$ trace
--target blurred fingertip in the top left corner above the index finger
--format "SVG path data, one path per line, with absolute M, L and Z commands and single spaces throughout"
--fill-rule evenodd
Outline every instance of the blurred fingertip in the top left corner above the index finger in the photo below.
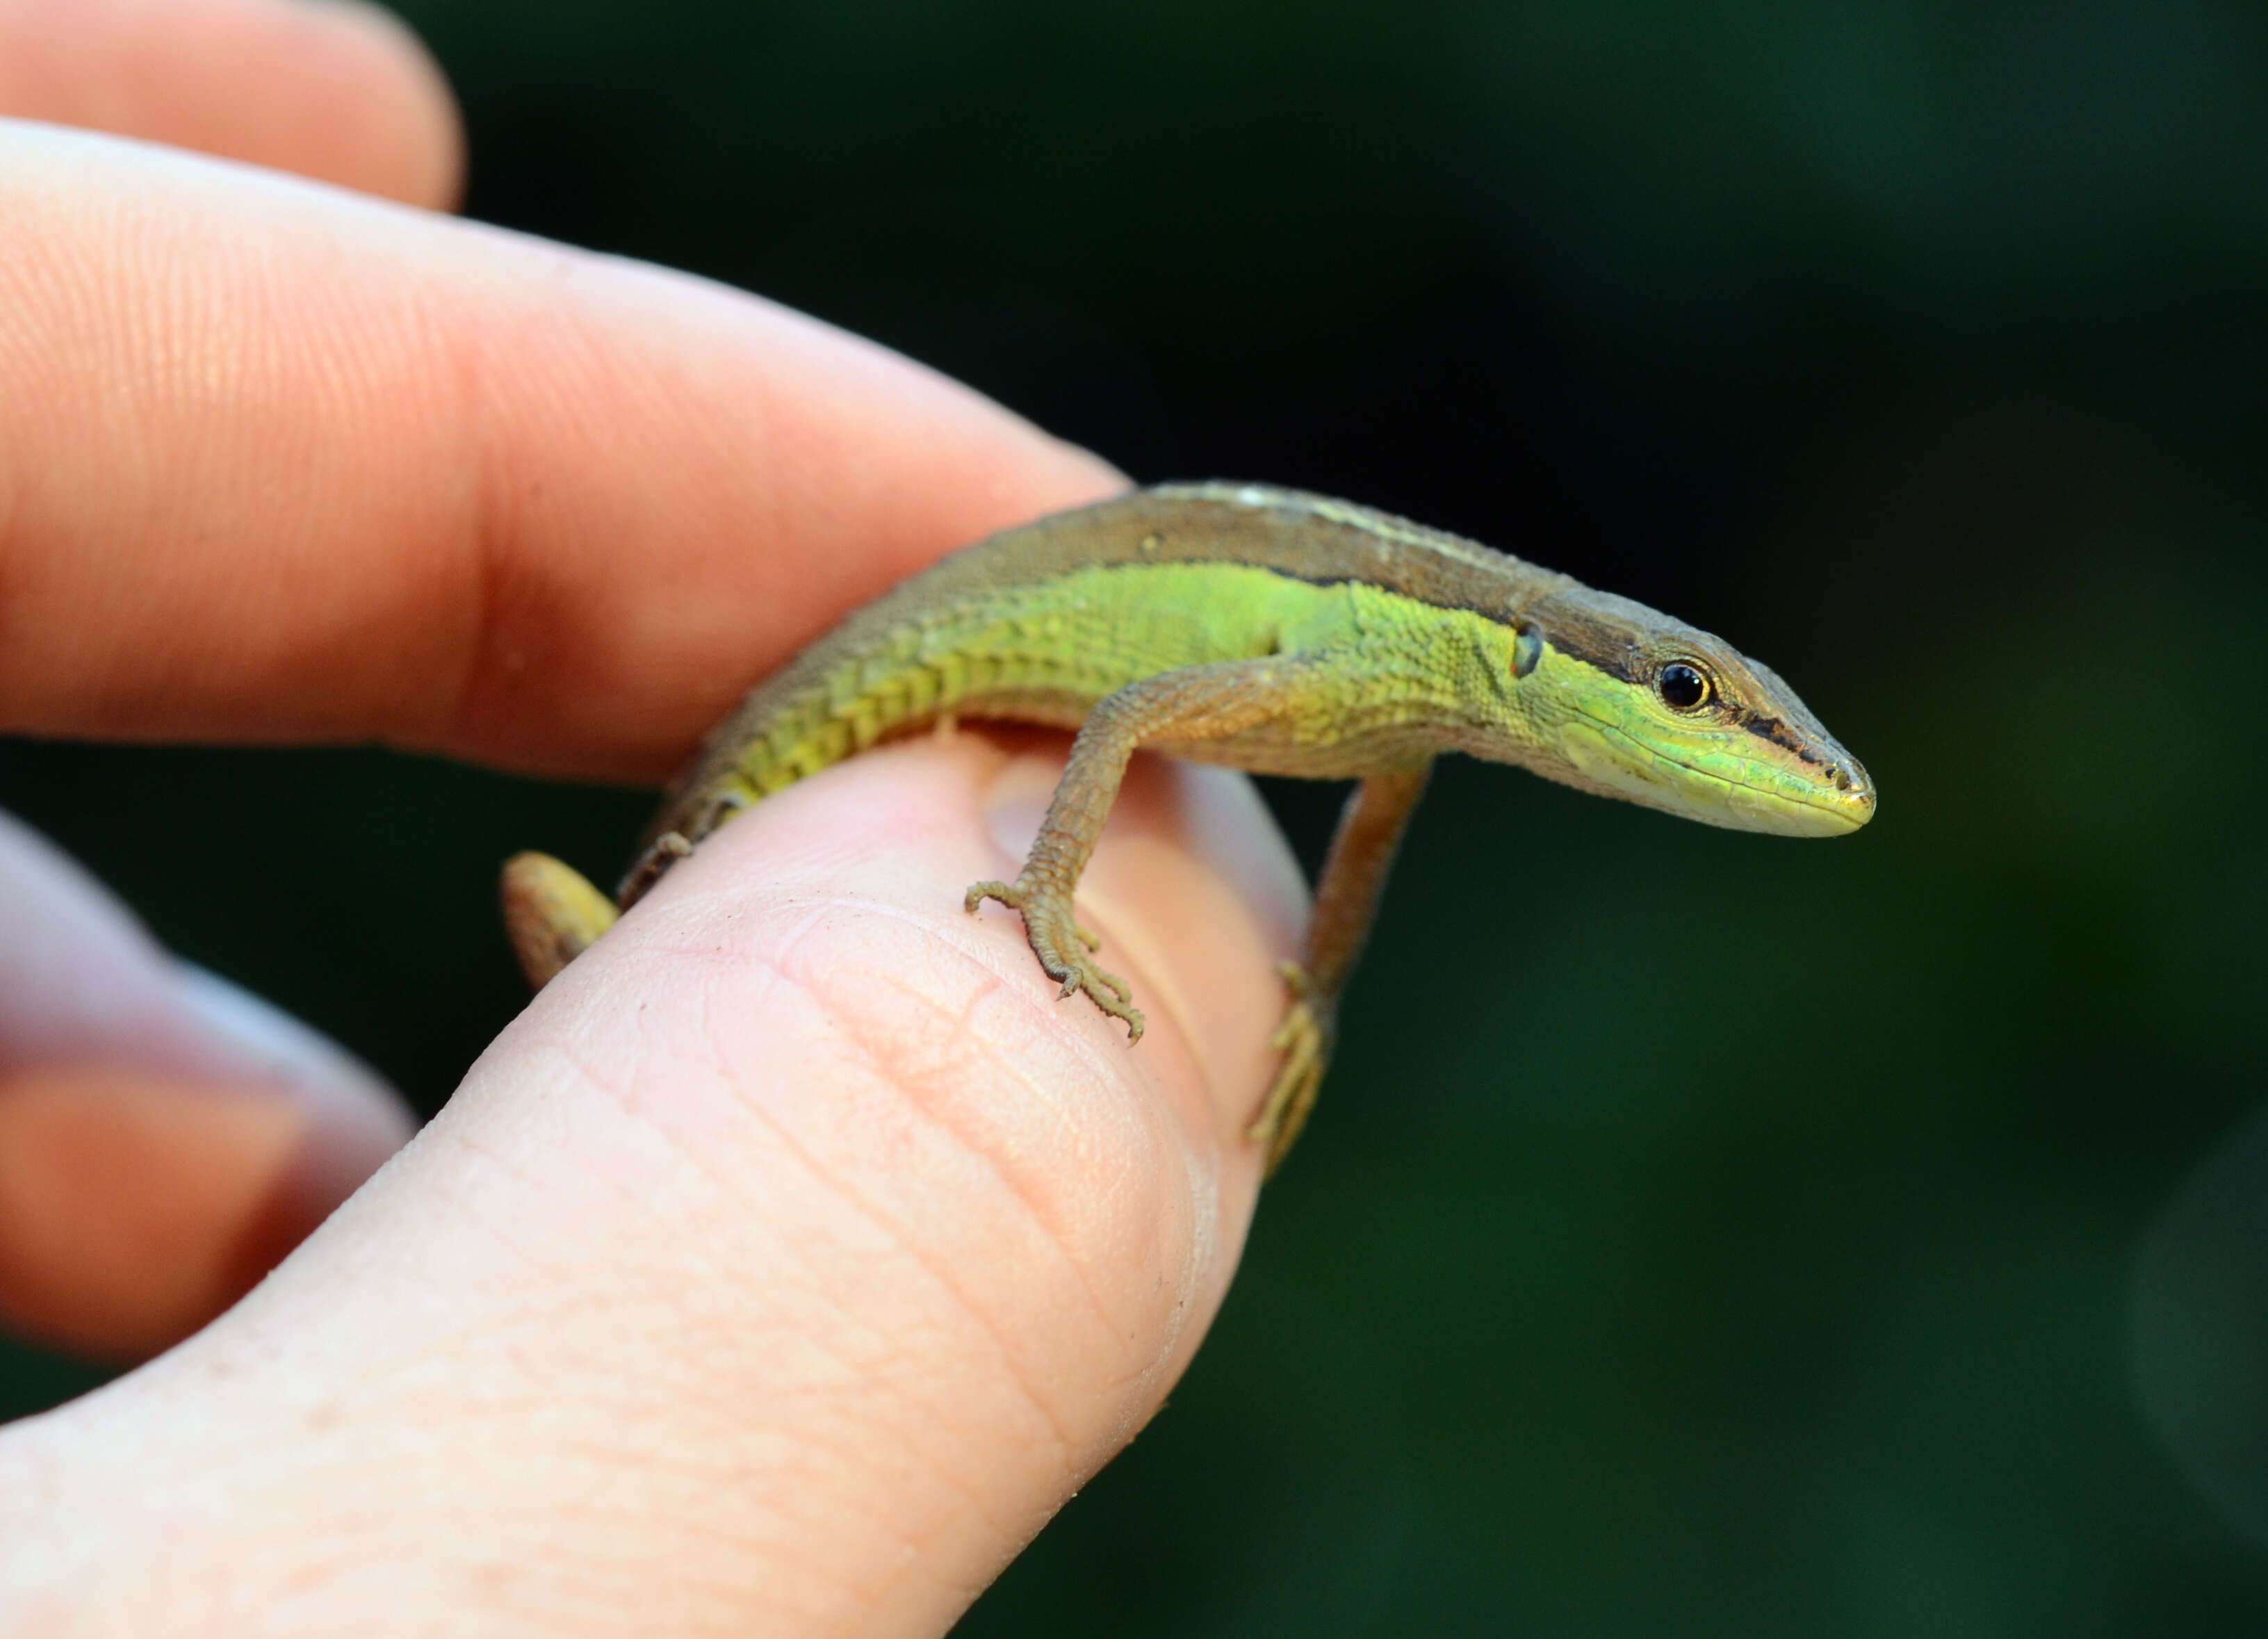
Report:
M 433 59 L 338 0 L 0 0 L 0 113 L 447 211 L 465 138 Z

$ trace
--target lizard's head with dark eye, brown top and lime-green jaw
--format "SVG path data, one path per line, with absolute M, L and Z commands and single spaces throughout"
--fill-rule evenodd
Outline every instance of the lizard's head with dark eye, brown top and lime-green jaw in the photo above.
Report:
M 1842 837 L 1873 782 L 1796 691 L 1721 637 L 1565 585 L 1513 626 L 1520 762 L 1706 825 Z

